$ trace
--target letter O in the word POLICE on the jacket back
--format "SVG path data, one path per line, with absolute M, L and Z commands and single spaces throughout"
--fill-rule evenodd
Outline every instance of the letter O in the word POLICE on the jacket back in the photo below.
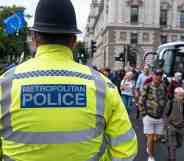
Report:
M 46 105 L 47 96 L 46 96 L 46 94 L 43 94 L 43 93 L 37 93 L 34 95 L 33 101 L 34 101 L 34 104 L 37 106 Z

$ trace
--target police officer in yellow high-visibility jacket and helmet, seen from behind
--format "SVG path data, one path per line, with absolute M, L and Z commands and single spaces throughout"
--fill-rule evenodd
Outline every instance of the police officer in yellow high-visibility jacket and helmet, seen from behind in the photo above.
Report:
M 132 161 L 137 138 L 115 86 L 73 60 L 70 0 L 40 0 L 37 52 L 1 78 L 4 161 Z

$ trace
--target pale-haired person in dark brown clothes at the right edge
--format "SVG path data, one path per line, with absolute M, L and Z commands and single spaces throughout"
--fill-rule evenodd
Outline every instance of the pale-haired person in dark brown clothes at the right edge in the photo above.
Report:
M 165 109 L 165 120 L 168 135 L 168 161 L 176 161 L 176 149 L 183 143 L 184 135 L 184 89 L 174 90 L 174 98 Z

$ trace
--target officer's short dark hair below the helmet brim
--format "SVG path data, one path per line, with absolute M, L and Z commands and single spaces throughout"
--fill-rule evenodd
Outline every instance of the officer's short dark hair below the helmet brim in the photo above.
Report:
M 72 37 L 76 38 L 74 34 L 48 34 L 40 32 L 36 32 L 35 34 L 36 40 L 39 41 L 40 44 L 61 44 L 67 46 Z

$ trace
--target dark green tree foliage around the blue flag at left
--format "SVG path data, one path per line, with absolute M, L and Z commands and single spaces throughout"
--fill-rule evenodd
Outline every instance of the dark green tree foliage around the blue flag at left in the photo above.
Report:
M 30 55 L 26 43 L 28 27 L 17 34 L 8 35 L 3 32 L 3 20 L 13 15 L 16 11 L 24 10 L 23 7 L 0 7 L 0 67 L 3 64 L 19 63 L 22 53 L 27 57 Z M 29 15 L 28 15 L 29 16 Z

